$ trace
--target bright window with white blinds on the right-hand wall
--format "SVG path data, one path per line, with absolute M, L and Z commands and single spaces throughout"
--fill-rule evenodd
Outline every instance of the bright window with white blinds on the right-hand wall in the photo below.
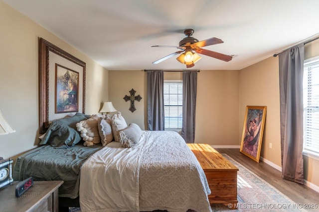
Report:
M 304 153 L 319 157 L 319 57 L 304 63 Z

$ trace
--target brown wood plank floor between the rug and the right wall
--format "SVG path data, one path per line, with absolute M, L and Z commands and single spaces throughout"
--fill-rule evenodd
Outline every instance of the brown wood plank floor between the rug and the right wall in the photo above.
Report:
M 239 152 L 236 148 L 216 148 L 219 153 L 226 153 L 237 162 L 244 165 L 260 178 L 274 186 L 281 193 L 285 194 L 296 204 L 317 204 L 319 208 L 319 193 L 313 189 L 298 183 L 284 180 L 279 170 L 273 168 L 265 162 L 259 163 Z M 318 209 L 317 209 L 318 210 Z M 316 210 L 314 210 L 316 211 Z

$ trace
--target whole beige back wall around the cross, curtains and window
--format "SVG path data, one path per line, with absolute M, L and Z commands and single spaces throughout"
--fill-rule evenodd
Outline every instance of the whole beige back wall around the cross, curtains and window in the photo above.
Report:
M 127 123 L 147 129 L 147 72 L 109 71 L 109 101 Z M 164 79 L 182 79 L 182 72 L 164 72 Z M 120 83 L 119 83 L 120 82 Z M 129 111 L 123 97 L 134 88 L 142 100 Z M 195 142 L 239 145 L 239 71 L 200 71 L 197 75 Z

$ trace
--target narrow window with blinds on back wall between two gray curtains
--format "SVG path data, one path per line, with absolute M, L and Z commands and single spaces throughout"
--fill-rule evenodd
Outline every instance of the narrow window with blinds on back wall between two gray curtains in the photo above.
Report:
M 181 130 L 183 110 L 183 82 L 164 80 L 164 128 Z

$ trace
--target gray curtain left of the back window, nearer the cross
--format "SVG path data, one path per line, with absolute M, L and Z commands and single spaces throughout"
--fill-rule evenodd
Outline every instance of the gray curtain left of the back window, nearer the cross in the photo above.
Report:
M 148 129 L 164 130 L 164 74 L 148 71 Z

